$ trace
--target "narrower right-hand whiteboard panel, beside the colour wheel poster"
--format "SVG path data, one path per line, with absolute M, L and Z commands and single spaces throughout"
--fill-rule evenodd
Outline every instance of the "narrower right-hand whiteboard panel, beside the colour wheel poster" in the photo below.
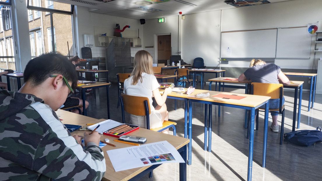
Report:
M 307 37 L 307 27 L 279 28 L 277 34 L 277 59 L 310 58 L 312 37 Z

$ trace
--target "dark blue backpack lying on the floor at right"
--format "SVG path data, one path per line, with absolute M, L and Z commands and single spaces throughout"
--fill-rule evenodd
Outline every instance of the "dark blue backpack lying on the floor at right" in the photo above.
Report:
M 287 140 L 297 145 L 310 146 L 315 144 L 316 142 L 322 141 L 322 131 L 321 127 L 317 127 L 316 130 L 292 131 L 289 133 L 285 133 L 284 138 L 284 140 Z

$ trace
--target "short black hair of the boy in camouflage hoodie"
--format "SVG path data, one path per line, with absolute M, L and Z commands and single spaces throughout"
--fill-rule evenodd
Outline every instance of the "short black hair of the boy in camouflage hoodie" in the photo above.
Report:
M 72 89 L 76 88 L 78 76 L 75 66 L 58 52 L 45 53 L 30 60 L 24 70 L 24 82 L 31 81 L 33 86 L 37 86 L 50 75 L 57 74 L 62 74 L 67 81 L 70 81 Z

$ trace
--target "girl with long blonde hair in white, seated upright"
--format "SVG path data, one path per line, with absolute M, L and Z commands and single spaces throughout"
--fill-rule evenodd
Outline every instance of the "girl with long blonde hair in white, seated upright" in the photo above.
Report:
M 166 97 L 171 93 L 171 88 L 166 88 L 163 95 L 159 92 L 159 83 L 152 70 L 152 56 L 145 50 L 138 51 L 134 56 L 134 69 L 131 76 L 124 81 L 123 93 L 132 96 L 147 97 L 150 103 L 150 129 L 162 127 L 164 120 L 168 120 L 166 110 Z M 157 106 L 152 105 L 152 97 Z M 147 128 L 145 116 L 130 115 L 131 123 Z M 164 131 L 167 133 L 167 130 Z

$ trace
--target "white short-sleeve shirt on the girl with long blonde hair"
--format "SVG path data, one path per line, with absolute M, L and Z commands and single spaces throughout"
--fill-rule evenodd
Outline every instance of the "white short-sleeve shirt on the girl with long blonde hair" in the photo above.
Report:
M 123 93 L 131 96 L 141 96 L 147 97 L 150 103 L 150 110 L 153 111 L 154 107 L 152 105 L 152 91 L 160 87 L 156 76 L 142 73 L 142 82 L 139 80 L 136 85 L 132 85 L 133 76 L 129 77 L 124 81 L 124 91 Z

